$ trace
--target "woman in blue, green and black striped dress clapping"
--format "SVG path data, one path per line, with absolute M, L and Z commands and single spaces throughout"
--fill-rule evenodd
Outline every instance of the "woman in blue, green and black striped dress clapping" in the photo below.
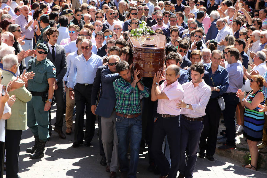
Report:
M 262 130 L 264 125 L 264 112 L 259 111 L 259 104 L 265 104 L 265 94 L 261 87 L 265 82 L 260 75 L 252 75 L 250 79 L 250 87 L 252 90 L 244 98 L 244 92 L 238 89 L 236 96 L 240 98 L 241 105 L 245 106 L 244 114 L 244 136 L 247 137 L 249 152 L 251 155 L 251 163 L 243 165 L 245 168 L 257 169 L 258 161 L 258 142 L 262 140 Z

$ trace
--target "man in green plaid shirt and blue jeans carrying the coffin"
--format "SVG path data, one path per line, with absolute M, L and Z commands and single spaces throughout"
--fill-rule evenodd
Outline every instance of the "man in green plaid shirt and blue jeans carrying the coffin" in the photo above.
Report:
M 139 70 L 131 76 L 129 64 L 120 61 L 116 65 L 120 78 L 113 82 L 116 93 L 116 131 L 119 142 L 121 177 L 136 178 L 136 169 L 142 137 L 140 95 L 147 98 L 149 90 L 138 78 Z M 130 136 L 130 138 L 129 138 Z M 131 140 L 131 167 L 128 166 L 127 150 Z

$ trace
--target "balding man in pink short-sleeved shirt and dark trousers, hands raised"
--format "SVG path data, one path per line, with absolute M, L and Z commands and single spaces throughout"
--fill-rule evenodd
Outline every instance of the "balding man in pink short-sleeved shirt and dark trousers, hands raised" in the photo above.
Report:
M 151 89 L 151 101 L 158 100 L 157 113 L 158 117 L 155 120 L 153 131 L 151 151 L 155 158 L 155 163 L 160 170 L 162 178 L 176 178 L 179 158 L 180 158 L 180 111 L 176 108 L 176 103 L 182 100 L 184 90 L 179 84 L 178 78 L 180 69 L 177 65 L 170 65 L 166 70 L 166 80 L 159 85 L 163 80 L 161 72 L 155 74 Z M 161 148 L 162 143 L 167 135 L 170 155 L 170 163 L 163 154 Z

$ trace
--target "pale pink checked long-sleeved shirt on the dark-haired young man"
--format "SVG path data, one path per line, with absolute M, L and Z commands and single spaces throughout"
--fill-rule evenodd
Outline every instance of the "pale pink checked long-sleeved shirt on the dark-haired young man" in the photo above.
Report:
M 181 114 L 187 117 L 202 117 L 206 115 L 205 109 L 211 96 L 211 88 L 207 85 L 204 80 L 198 84 L 195 88 L 192 81 L 184 83 L 182 85 L 184 90 L 184 102 L 191 104 L 193 110 L 181 108 Z

